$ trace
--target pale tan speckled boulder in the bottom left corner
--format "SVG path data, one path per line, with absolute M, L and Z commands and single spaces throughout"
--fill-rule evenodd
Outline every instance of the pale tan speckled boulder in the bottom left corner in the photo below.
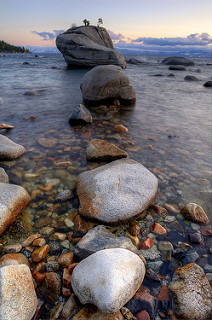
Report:
M 31 320 L 36 307 L 29 267 L 20 264 L 0 268 L 0 319 Z

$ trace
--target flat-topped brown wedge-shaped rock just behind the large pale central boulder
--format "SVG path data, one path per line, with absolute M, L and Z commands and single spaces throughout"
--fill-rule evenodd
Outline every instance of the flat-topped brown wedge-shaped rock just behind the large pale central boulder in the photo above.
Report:
M 88 161 L 113 161 L 126 158 L 127 153 L 115 144 L 101 139 L 92 139 L 86 148 L 86 159 Z

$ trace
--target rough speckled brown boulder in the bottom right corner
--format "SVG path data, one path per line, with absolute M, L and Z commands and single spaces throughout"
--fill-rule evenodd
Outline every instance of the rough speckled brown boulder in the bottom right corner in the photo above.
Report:
M 177 317 L 191 320 L 212 318 L 212 288 L 200 266 L 190 263 L 178 268 L 170 289 Z

